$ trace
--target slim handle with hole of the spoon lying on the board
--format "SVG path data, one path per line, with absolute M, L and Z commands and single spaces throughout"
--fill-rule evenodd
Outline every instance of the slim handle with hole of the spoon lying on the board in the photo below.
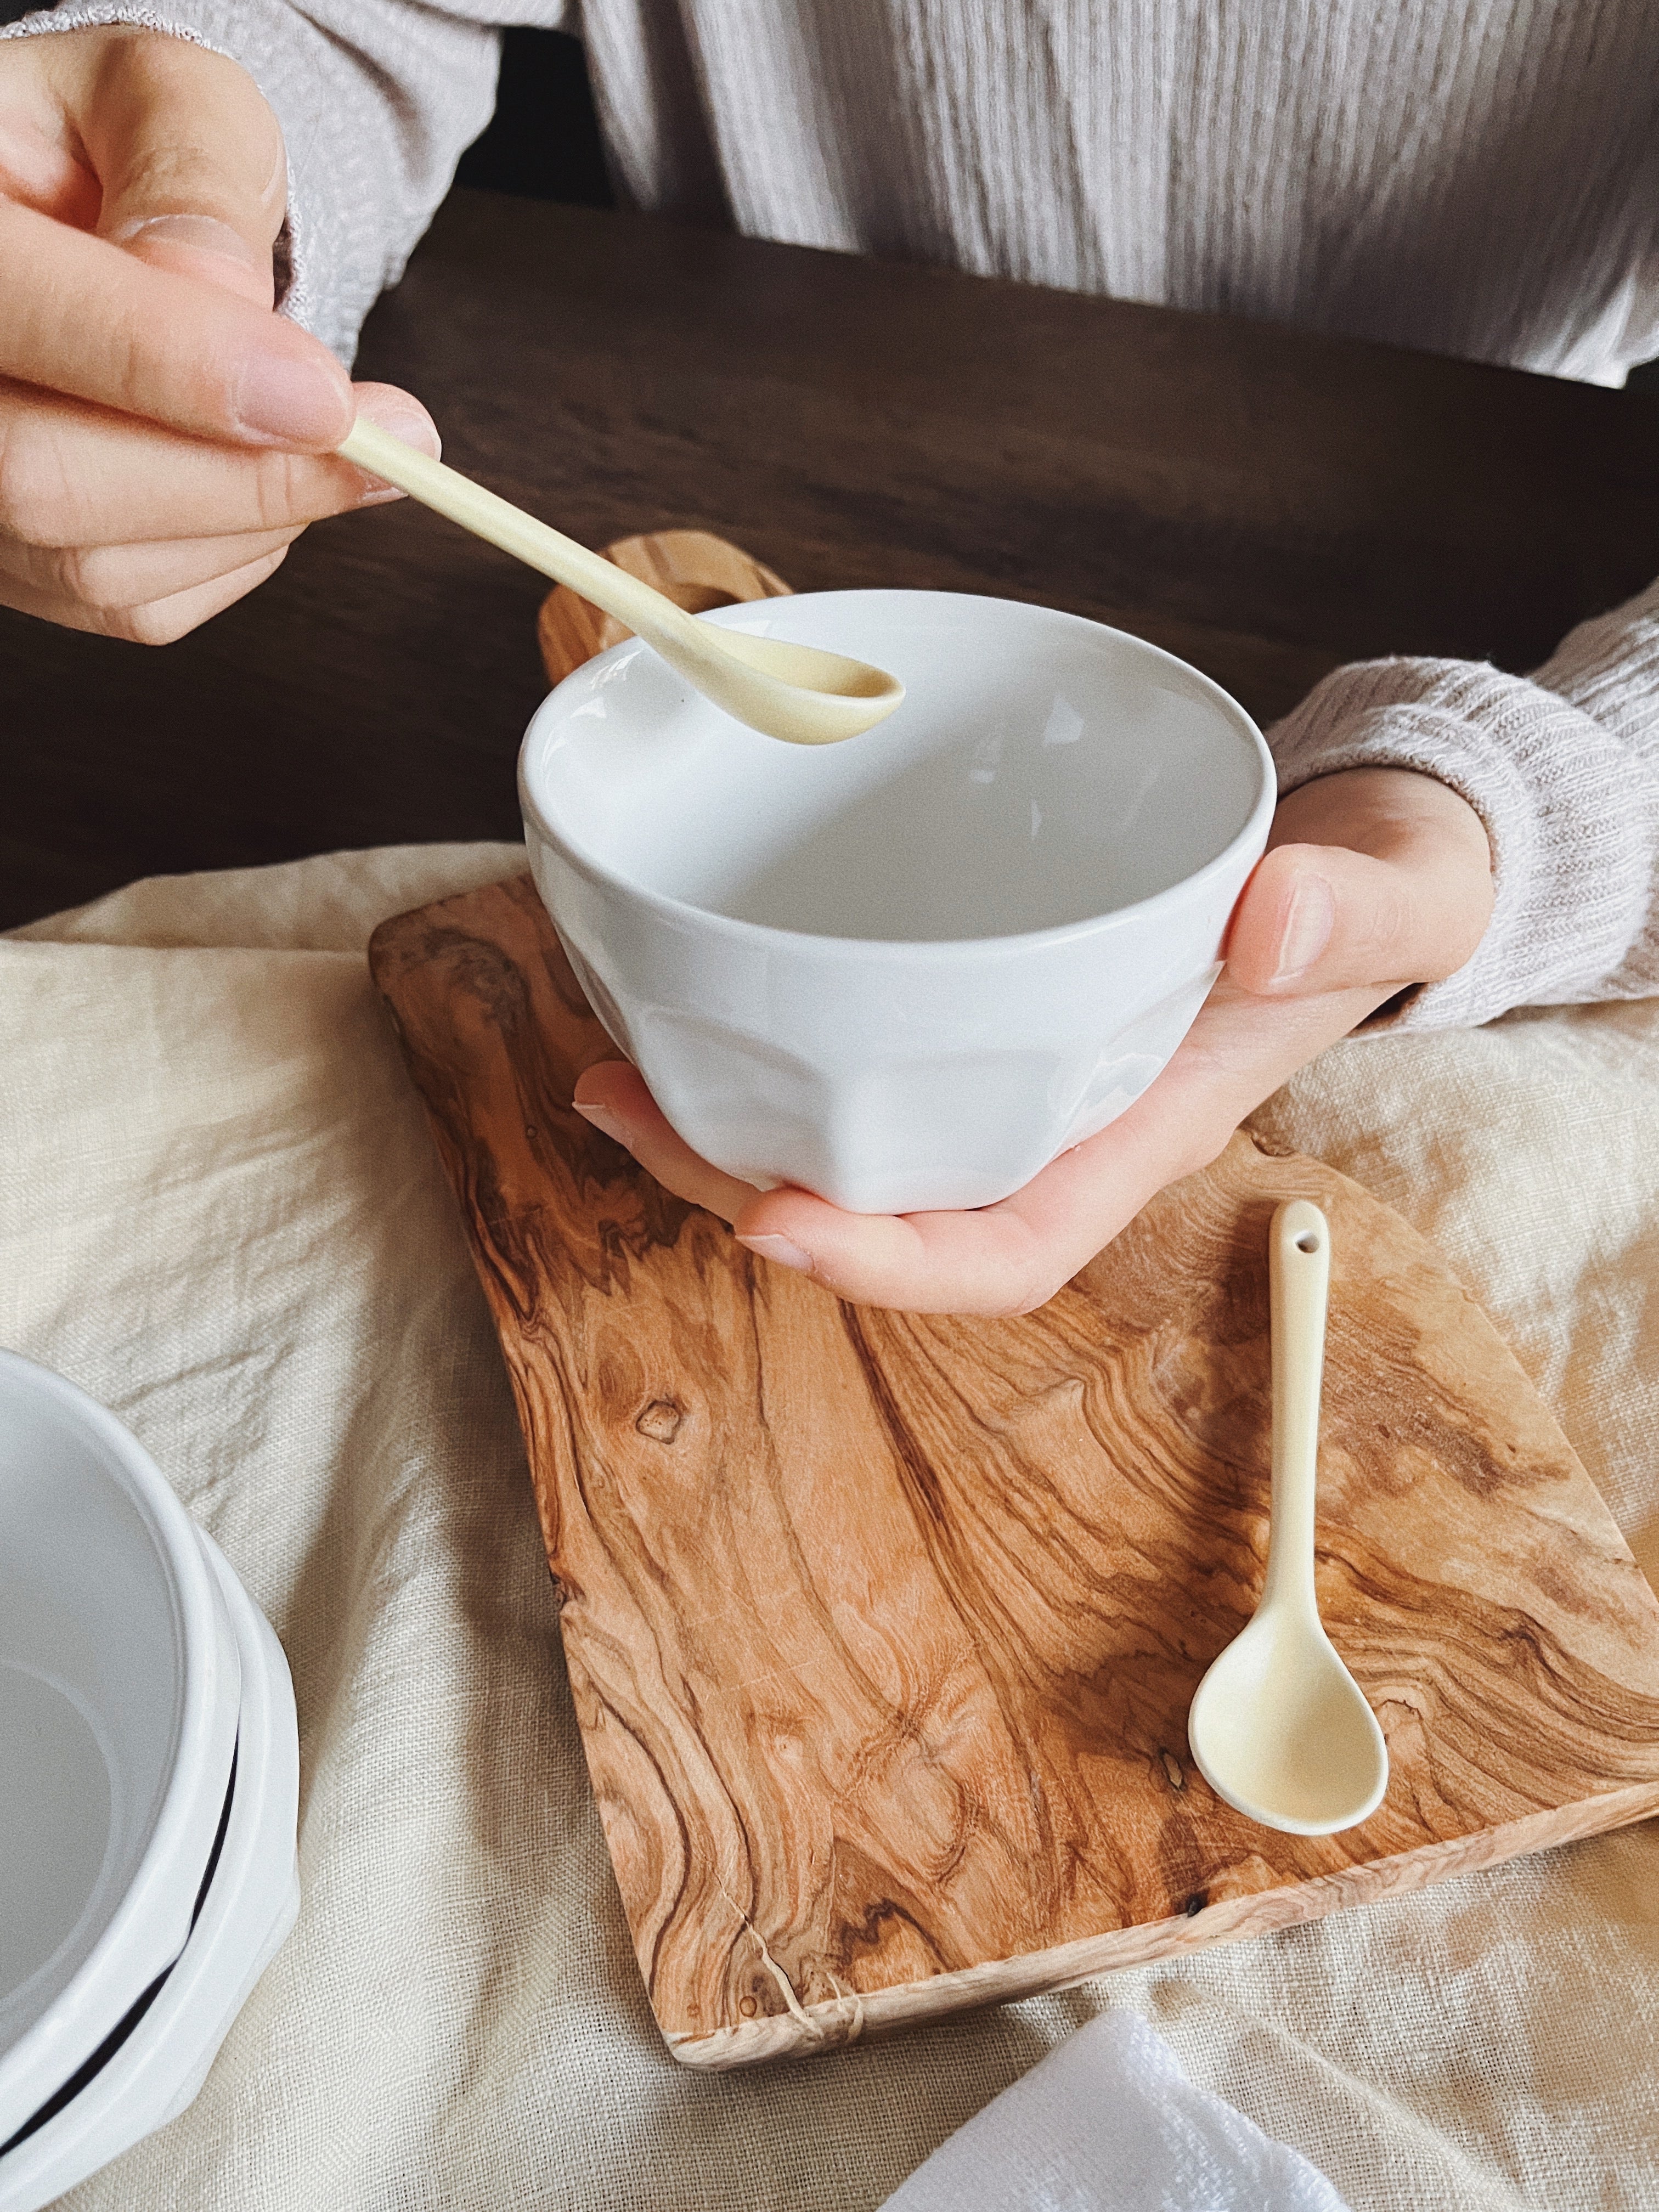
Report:
M 1332 1230 L 1318 1206 L 1292 1199 L 1267 1232 L 1267 1294 L 1274 1367 L 1274 1493 L 1263 1604 L 1314 1604 L 1314 1491 L 1318 1480 L 1318 1391 L 1325 1378 L 1325 1305 Z

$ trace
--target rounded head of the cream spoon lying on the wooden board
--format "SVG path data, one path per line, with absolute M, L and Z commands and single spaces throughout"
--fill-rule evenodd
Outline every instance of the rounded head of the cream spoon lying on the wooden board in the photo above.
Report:
M 1199 1683 L 1186 1721 L 1199 1774 L 1234 1812 L 1334 1836 L 1383 1803 L 1389 1752 L 1316 1619 L 1263 1608 Z

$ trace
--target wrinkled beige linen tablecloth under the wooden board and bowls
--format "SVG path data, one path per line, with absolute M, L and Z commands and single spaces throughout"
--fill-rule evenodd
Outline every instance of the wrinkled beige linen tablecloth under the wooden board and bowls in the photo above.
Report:
M 0 1343 L 131 1422 L 276 1626 L 305 1907 L 71 2199 L 869 2208 L 1104 2006 L 1356 2212 L 1659 2203 L 1659 1827 L 869 2048 L 666 2057 L 482 1296 L 363 942 L 513 847 L 135 885 L 0 942 Z M 1659 1006 L 1343 1044 L 1261 1115 L 1427 1230 L 1659 1575 Z

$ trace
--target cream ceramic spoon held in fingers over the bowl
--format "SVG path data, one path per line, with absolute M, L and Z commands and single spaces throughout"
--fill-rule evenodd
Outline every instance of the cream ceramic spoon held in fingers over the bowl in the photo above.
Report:
M 865 661 L 699 622 L 615 562 L 549 529 L 546 522 L 495 498 L 458 469 L 416 451 L 376 422 L 358 420 L 341 453 L 358 469 L 369 469 L 398 491 L 407 491 L 422 507 L 449 515 L 476 538 L 487 538 L 502 553 L 513 553 L 542 575 L 551 575 L 555 584 L 568 584 L 584 599 L 593 599 L 661 653 L 668 666 L 706 699 L 745 721 L 750 730 L 783 737 L 792 745 L 834 745 L 843 737 L 874 728 L 905 697 L 905 686 L 896 677 Z

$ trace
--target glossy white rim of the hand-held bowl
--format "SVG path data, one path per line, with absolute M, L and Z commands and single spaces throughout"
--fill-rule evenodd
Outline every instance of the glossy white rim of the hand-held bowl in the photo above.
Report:
M 1267 750 L 1267 739 L 1261 734 L 1256 719 L 1225 690 L 1214 677 L 1208 677 L 1201 668 L 1183 661 L 1179 653 L 1168 653 L 1164 646 L 1155 646 L 1148 637 L 1137 637 L 1133 630 L 1119 630 L 1110 622 L 1095 622 L 1093 615 L 1073 615 L 1062 606 L 1044 606 L 1040 599 L 998 599 L 989 593 L 975 591 L 907 591 L 898 586 L 860 586 L 852 591 L 803 591 L 787 593 L 781 599 L 739 599 L 732 606 L 710 608 L 706 615 L 697 615 L 697 622 L 712 622 L 721 628 L 739 628 L 743 617 L 752 617 L 757 608 L 772 608 L 783 604 L 812 606 L 821 599 L 949 599 L 962 606 L 1009 606 L 1022 613 L 1044 615 L 1048 619 L 1082 628 L 1099 630 L 1106 637 L 1115 637 L 1121 644 L 1133 646 L 1137 653 L 1150 655 L 1168 668 L 1179 670 L 1190 677 L 1214 706 L 1221 708 L 1223 719 L 1228 719 L 1237 734 L 1243 737 L 1254 754 L 1261 774 L 1261 790 L 1256 792 L 1256 803 L 1250 807 L 1243 825 L 1228 838 L 1221 852 L 1212 854 L 1203 867 L 1197 867 L 1190 876 L 1181 876 L 1179 883 L 1166 885 L 1161 891 L 1150 891 L 1146 898 L 1130 900 L 1126 907 L 1113 907 L 1106 914 L 1088 914 L 1075 922 L 1055 922 L 1048 929 L 1022 929 L 1004 936 L 984 938 L 841 938 L 827 936 L 816 929 L 779 929 L 770 922 L 750 922 L 732 914 L 714 914 L 708 907 L 697 907 L 686 898 L 670 898 L 666 891 L 653 891 L 650 887 L 635 883 L 619 869 L 606 865 L 588 847 L 577 845 L 571 836 L 553 825 L 546 810 L 542 807 L 538 794 L 531 787 L 531 752 L 542 743 L 542 723 L 549 717 L 553 701 L 560 692 L 586 677 L 595 668 L 615 666 L 624 655 L 648 653 L 637 637 L 624 637 L 619 644 L 608 646 L 604 653 L 595 653 L 591 659 L 573 668 L 553 690 L 542 699 L 542 703 L 531 714 L 524 739 L 518 748 L 518 799 L 520 812 L 524 816 L 524 827 L 535 830 L 546 845 L 557 852 L 566 867 L 584 876 L 588 883 L 604 891 L 619 894 L 633 905 L 646 907 L 659 920 L 686 927 L 695 922 L 699 929 L 728 938 L 737 945 L 748 947 L 781 947 L 787 945 L 792 951 L 810 956 L 812 949 L 821 953 L 834 953 L 838 958 L 863 958 L 878 962 L 938 962 L 958 964 L 964 960 L 984 960 L 987 956 L 1004 958 L 1020 951 L 1044 951 L 1057 949 L 1068 942 L 1079 942 L 1084 938 L 1106 933 L 1113 929 L 1124 929 L 1133 920 L 1157 920 L 1159 909 L 1175 909 L 1188 905 L 1194 896 L 1201 896 L 1210 883 L 1219 876 L 1232 874 L 1239 854 L 1252 845 L 1261 849 L 1272 823 L 1274 807 L 1279 805 L 1279 770 L 1274 757 Z

